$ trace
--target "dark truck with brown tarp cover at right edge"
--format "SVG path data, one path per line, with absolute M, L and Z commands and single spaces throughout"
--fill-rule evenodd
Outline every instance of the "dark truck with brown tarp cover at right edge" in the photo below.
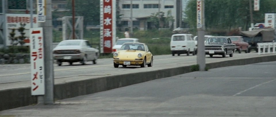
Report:
M 244 41 L 248 42 L 250 45 L 248 52 L 250 52 L 251 49 L 258 52 L 257 43 L 274 42 L 276 40 L 274 28 L 256 28 L 251 31 L 240 31 L 239 34 L 244 38 Z

